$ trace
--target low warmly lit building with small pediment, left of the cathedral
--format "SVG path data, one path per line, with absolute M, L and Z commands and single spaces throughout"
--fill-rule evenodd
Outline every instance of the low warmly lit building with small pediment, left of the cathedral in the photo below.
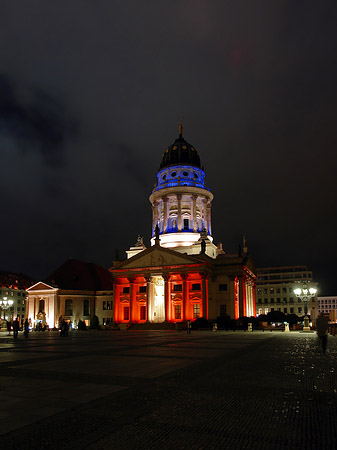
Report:
M 113 322 L 113 284 L 110 272 L 93 263 L 69 259 L 46 280 L 27 289 L 27 317 L 35 327 L 45 322 L 58 327 L 60 317 L 89 325 L 96 315 L 100 324 Z

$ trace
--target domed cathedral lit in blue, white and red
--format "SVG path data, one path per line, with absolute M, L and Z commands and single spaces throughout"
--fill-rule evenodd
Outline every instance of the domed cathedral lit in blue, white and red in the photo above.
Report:
M 152 238 L 141 236 L 110 269 L 115 323 L 162 323 L 255 315 L 255 267 L 213 243 L 213 194 L 197 150 L 183 137 L 166 148 L 150 195 Z

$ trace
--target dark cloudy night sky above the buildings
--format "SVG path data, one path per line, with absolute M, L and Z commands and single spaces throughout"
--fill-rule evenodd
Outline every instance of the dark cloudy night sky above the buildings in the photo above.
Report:
M 166 147 L 197 149 L 214 242 L 336 295 L 337 3 L 0 4 L 0 269 L 149 245 Z

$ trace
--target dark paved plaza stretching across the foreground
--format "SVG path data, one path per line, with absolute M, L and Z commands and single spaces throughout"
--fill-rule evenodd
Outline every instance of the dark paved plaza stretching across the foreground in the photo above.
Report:
M 1 333 L 1 445 L 335 449 L 336 355 L 315 333 Z

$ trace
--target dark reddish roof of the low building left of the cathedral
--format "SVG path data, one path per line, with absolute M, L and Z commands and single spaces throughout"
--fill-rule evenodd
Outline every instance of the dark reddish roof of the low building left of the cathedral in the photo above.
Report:
M 106 291 L 113 289 L 110 272 L 94 263 L 68 259 L 44 281 L 67 290 Z

